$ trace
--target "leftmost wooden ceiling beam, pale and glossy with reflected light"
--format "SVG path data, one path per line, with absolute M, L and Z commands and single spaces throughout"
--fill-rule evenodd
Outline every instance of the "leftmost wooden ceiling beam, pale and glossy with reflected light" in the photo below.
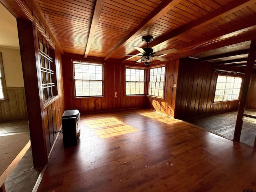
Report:
M 84 53 L 84 58 L 87 58 L 90 47 L 92 45 L 92 40 L 94 37 L 94 33 L 96 31 L 97 24 L 100 19 L 100 14 L 101 14 L 104 2 L 105 2 L 105 0 L 96 0 L 96 4 L 94 7 L 94 12 L 93 12 L 93 16 L 92 16 L 92 23 L 90 26 L 90 33 L 88 36 L 87 45 L 86 45 L 86 49 L 85 49 L 85 53 Z

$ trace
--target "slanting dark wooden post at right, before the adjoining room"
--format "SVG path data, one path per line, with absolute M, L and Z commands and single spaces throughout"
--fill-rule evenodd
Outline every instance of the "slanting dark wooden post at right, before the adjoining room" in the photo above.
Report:
M 245 74 L 244 74 L 244 83 L 242 86 L 242 93 L 240 98 L 240 104 L 238 107 L 236 127 L 234 132 L 234 141 L 239 142 L 242 132 L 242 125 L 244 120 L 244 109 L 246 108 L 246 97 L 248 93 L 248 88 L 250 85 L 251 75 L 254 67 L 254 60 L 256 55 L 256 40 L 251 41 L 250 50 L 248 54 Z

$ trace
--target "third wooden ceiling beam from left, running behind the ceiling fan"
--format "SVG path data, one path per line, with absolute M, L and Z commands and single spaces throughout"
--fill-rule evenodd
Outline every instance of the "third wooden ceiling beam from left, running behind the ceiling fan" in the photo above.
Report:
M 177 30 L 174 30 L 170 32 L 169 34 L 164 35 L 162 38 L 155 39 L 153 42 L 150 43 L 151 48 L 156 48 L 166 42 L 169 42 L 171 40 L 174 40 L 176 36 L 181 34 L 186 34 L 190 32 L 191 30 L 194 30 L 196 28 L 200 28 L 202 26 L 205 26 L 215 20 L 218 20 L 228 14 L 231 14 L 233 12 L 236 12 L 240 10 L 241 8 L 248 6 L 252 3 L 256 2 L 256 0 L 241 0 L 241 1 L 232 1 L 228 4 L 225 4 L 224 6 L 221 6 L 220 8 L 210 12 L 208 15 L 199 18 L 198 20 L 195 20 L 193 22 L 190 22 L 189 24 L 186 24 Z M 255 24 L 255 23 L 254 23 Z M 179 49 L 177 48 L 179 51 Z M 132 54 L 138 54 L 139 52 L 136 51 Z M 123 61 L 129 60 L 130 58 L 125 58 Z

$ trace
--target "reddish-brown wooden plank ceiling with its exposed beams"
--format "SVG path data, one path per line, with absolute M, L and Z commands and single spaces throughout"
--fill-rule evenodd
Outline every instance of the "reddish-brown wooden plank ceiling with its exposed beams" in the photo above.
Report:
M 235 52 L 223 62 L 247 57 L 256 38 L 256 0 L 34 0 L 66 53 L 135 62 L 141 38 L 152 35 L 154 52 L 176 48 L 164 58 Z M 249 43 L 248 43 L 249 42 Z M 210 51 L 216 49 L 214 51 Z M 222 55 L 224 56 L 224 55 Z

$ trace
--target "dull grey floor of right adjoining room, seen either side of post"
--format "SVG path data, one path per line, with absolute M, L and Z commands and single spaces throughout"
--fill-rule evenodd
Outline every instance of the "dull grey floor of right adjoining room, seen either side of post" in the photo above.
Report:
M 246 110 L 245 114 L 256 116 L 256 110 Z M 204 117 L 190 118 L 185 121 L 204 128 L 209 132 L 233 140 L 236 118 L 237 111 L 233 111 Z M 256 119 L 244 117 L 240 142 L 253 147 L 255 136 Z

